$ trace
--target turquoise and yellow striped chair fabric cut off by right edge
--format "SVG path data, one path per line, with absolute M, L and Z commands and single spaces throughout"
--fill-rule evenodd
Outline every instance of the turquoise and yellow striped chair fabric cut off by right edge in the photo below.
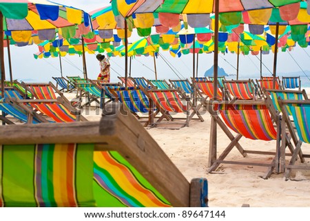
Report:
M 293 116 L 297 134 L 304 143 L 310 143 L 310 104 L 292 105 L 289 109 Z

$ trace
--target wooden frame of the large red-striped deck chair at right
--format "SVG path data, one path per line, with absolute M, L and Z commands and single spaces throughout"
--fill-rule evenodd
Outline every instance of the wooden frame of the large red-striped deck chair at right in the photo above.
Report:
M 258 166 L 258 167 L 268 167 L 267 172 L 265 173 L 262 178 L 269 178 L 271 176 L 271 173 L 273 171 L 276 171 L 276 173 L 280 173 L 281 168 L 284 167 L 283 162 L 280 162 L 280 145 L 281 145 L 281 121 L 280 121 L 280 115 L 276 113 L 276 110 L 273 109 L 270 103 L 268 103 L 267 100 L 261 100 L 261 101 L 245 101 L 245 100 L 236 100 L 236 101 L 205 101 L 205 104 L 207 105 L 207 110 L 211 114 L 211 117 L 213 118 L 212 123 L 216 123 L 217 125 L 220 126 L 220 128 L 225 132 L 226 136 L 231 140 L 231 143 L 226 147 L 226 149 L 220 154 L 220 156 L 217 157 L 216 154 L 216 145 L 214 145 L 214 139 L 216 139 L 216 131 L 211 131 L 210 134 L 210 146 L 209 146 L 209 169 L 208 172 L 211 173 L 215 171 L 220 164 L 236 164 L 236 165 L 253 165 L 253 166 Z M 237 135 L 234 136 L 234 134 L 231 133 L 231 130 L 227 126 L 227 123 L 225 123 L 225 120 L 222 119 L 214 109 L 214 105 L 224 105 L 225 109 L 229 108 L 228 110 L 238 113 L 238 109 L 236 109 L 236 106 L 234 105 L 241 105 L 243 106 L 242 108 L 249 108 L 251 110 L 254 106 L 257 106 L 258 108 L 264 107 L 266 111 L 268 111 L 268 114 L 264 114 L 264 118 L 266 118 L 269 123 L 267 123 L 267 128 L 271 128 L 273 130 L 273 135 L 269 137 L 269 140 L 273 139 L 276 140 L 276 151 L 270 152 L 270 151 L 260 151 L 260 150 L 250 150 L 250 149 L 243 149 L 242 146 L 239 143 L 240 138 L 242 138 L 242 134 L 237 132 Z M 239 114 L 240 116 L 240 114 Z M 230 116 L 234 120 L 234 116 Z M 242 116 L 240 116 L 242 117 Z M 251 118 L 252 120 L 252 118 Z M 211 127 L 212 127 L 211 123 Z M 243 122 L 240 121 L 240 124 Z M 244 123 L 243 123 L 244 124 Z M 273 125 L 273 126 L 272 126 Z M 238 126 L 236 126 L 238 127 Z M 241 126 L 240 126 L 241 127 Z M 258 129 L 262 128 L 262 131 L 264 131 L 265 127 L 262 126 L 254 126 L 252 127 L 256 128 L 256 131 Z M 260 128 L 259 128 L 260 127 Z M 245 127 L 246 128 L 246 127 Z M 215 133 L 215 134 L 214 134 Z M 255 132 L 256 133 L 256 132 Z M 257 135 L 253 134 L 256 136 L 256 139 L 259 137 Z M 286 143 L 286 142 L 285 142 Z M 243 157 L 246 157 L 247 154 L 263 154 L 263 155 L 271 155 L 273 156 L 273 159 L 271 162 L 267 163 L 262 163 L 262 162 L 250 162 L 250 161 L 243 161 L 243 160 L 225 160 L 225 158 L 228 156 L 228 154 L 231 152 L 232 149 L 236 147 L 240 154 Z M 282 164 L 282 165 L 281 165 Z

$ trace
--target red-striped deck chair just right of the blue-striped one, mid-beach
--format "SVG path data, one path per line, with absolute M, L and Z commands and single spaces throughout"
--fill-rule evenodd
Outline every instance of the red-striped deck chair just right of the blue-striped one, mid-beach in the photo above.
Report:
M 150 101 L 154 103 L 156 109 L 158 109 L 161 114 L 161 118 L 158 118 L 156 122 L 154 122 L 154 118 L 151 118 L 152 127 L 156 127 L 161 123 L 163 118 L 171 119 L 171 120 L 185 120 L 184 123 L 176 123 L 180 124 L 181 127 L 189 127 L 189 121 L 192 119 L 200 120 L 203 122 L 203 117 L 199 113 L 199 109 L 201 105 L 199 104 L 197 107 L 193 105 L 190 101 L 189 97 L 186 98 L 186 104 L 184 105 L 182 102 L 182 96 L 180 94 L 179 89 L 170 89 L 170 90 L 145 90 L 141 87 L 141 90 L 145 92 L 145 94 L 149 97 Z M 190 113 L 192 110 L 192 113 Z M 186 118 L 174 117 L 172 114 L 184 113 L 186 114 Z M 193 118 L 194 115 L 197 115 L 198 118 Z

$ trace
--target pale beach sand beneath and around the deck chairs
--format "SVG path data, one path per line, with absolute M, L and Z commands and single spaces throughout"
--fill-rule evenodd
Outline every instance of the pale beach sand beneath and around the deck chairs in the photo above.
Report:
M 307 88 L 310 97 L 310 88 Z M 84 113 L 85 114 L 85 113 Z M 98 120 L 100 113 L 92 110 L 85 115 L 89 120 Z M 271 175 L 264 180 L 262 176 L 267 167 L 247 165 L 220 165 L 217 173 L 207 173 L 209 154 L 209 131 L 211 117 L 205 113 L 205 122 L 192 120 L 189 127 L 182 129 L 147 129 L 167 156 L 180 169 L 187 180 L 204 177 L 209 183 L 209 207 L 310 207 L 310 171 L 294 170 L 291 178 L 298 181 L 285 181 L 283 174 Z M 229 144 L 229 139 L 218 127 L 218 154 Z M 244 149 L 274 151 L 275 142 L 241 138 Z M 309 154 L 309 144 L 302 144 L 304 153 Z M 242 160 L 241 154 L 231 151 L 226 160 Z M 289 157 L 287 157 L 287 160 Z M 247 161 L 270 162 L 271 156 L 248 154 Z M 306 158 L 309 163 L 309 159 Z

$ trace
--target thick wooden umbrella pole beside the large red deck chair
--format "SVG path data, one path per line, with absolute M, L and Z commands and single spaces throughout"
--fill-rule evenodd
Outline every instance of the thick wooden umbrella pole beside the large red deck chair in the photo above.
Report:
M 215 1 L 215 25 L 214 25 L 214 99 L 218 96 L 218 12 L 220 8 L 220 0 Z M 223 94 L 224 96 L 224 94 Z M 208 166 L 211 167 L 216 160 L 216 120 L 211 118 L 211 131 L 210 131 L 210 143 L 209 143 L 209 159 Z

